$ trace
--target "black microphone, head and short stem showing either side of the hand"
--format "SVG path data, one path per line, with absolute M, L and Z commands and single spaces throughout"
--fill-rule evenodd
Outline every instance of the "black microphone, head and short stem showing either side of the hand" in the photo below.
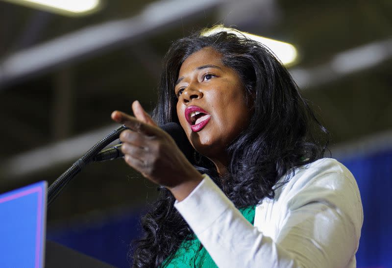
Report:
M 178 148 L 183 152 L 183 154 L 185 154 L 188 160 L 190 160 L 193 148 L 189 143 L 188 138 L 185 135 L 185 132 L 182 127 L 177 123 L 170 122 L 162 125 L 161 128 L 166 131 L 170 136 L 172 136 Z M 121 151 L 121 144 L 118 144 L 116 146 L 101 150 L 94 158 L 94 161 L 101 162 L 106 160 L 113 160 L 123 156 L 124 154 Z

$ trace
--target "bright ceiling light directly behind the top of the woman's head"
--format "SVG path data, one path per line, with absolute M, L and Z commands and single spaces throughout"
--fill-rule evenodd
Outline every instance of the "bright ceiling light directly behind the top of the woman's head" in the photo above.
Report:
M 202 33 L 204 36 L 208 36 L 217 32 L 227 31 L 230 33 L 235 33 L 238 36 L 245 36 L 246 38 L 255 40 L 266 46 L 270 51 L 276 55 L 276 57 L 283 63 L 285 66 L 292 66 L 295 63 L 297 58 L 297 50 L 295 47 L 289 43 L 273 40 L 270 38 L 250 34 L 247 32 L 242 32 L 233 28 L 226 28 L 222 26 L 215 26 L 210 30 L 207 30 Z

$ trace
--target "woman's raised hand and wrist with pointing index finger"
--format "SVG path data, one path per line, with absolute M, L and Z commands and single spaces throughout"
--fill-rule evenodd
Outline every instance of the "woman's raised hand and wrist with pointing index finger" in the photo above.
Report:
M 114 121 L 129 128 L 120 135 L 125 162 L 152 182 L 166 186 L 177 200 L 184 199 L 200 183 L 201 174 L 139 101 L 132 103 L 132 110 L 136 118 L 119 111 L 112 113 Z

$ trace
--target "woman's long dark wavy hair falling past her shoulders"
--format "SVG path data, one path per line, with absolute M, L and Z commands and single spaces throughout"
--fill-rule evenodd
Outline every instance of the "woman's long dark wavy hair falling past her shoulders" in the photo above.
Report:
M 294 168 L 324 154 L 328 131 L 319 123 L 288 71 L 260 43 L 234 33 L 209 36 L 199 33 L 175 41 L 164 57 L 153 119 L 159 125 L 177 122 L 174 83 L 181 64 L 192 53 L 211 47 L 222 55 L 224 65 L 235 70 L 253 102 L 250 124 L 226 149 L 227 173 L 195 151 L 198 171 L 209 174 L 236 207 L 257 205 L 274 197 L 273 186 Z M 142 219 L 144 237 L 133 250 L 133 267 L 159 267 L 171 258 L 193 231 L 174 208 L 174 197 L 159 187 L 160 197 Z

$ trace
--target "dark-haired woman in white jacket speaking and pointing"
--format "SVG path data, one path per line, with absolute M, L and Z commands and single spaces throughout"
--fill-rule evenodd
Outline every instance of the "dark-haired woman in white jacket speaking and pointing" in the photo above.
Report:
M 220 32 L 174 42 L 153 119 L 134 102 L 125 161 L 163 187 L 134 267 L 355 267 L 362 204 L 352 174 L 322 158 L 327 131 L 282 64 Z M 177 122 L 189 162 L 157 125 Z

